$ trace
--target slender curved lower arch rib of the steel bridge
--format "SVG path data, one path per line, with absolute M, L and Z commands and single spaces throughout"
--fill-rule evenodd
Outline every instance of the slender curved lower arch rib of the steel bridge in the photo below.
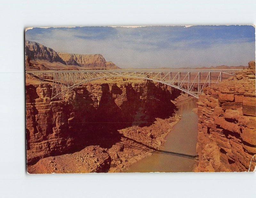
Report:
M 101 76 L 101 77 L 95 77 L 95 78 L 91 78 L 91 79 L 86 79 L 86 80 L 83 80 L 79 83 L 76 83 L 76 84 L 73 84 L 69 87 L 67 87 L 66 89 L 62 90 L 61 92 L 57 93 L 55 96 L 52 97 L 52 99 L 54 98 L 57 98 L 58 96 L 60 96 L 61 94 L 65 93 L 65 92 L 68 92 L 68 91 L 71 91 L 73 90 L 75 87 L 83 84 L 83 83 L 86 83 L 86 82 L 90 82 L 90 81 L 93 81 L 93 80 L 97 80 L 97 79 L 100 79 L 100 78 L 108 78 L 108 77 L 132 77 L 132 78 L 139 78 L 139 79 L 144 79 L 144 80 L 150 80 L 150 81 L 153 81 L 153 82 L 159 82 L 159 83 L 162 83 L 162 84 L 166 84 L 166 85 L 169 85 L 173 88 L 176 88 L 176 89 L 179 89 L 180 91 L 182 92 L 185 92 L 185 93 L 188 93 L 189 95 L 195 97 L 198 99 L 198 96 L 189 92 L 188 90 L 186 89 L 183 89 L 175 84 L 170 84 L 170 83 L 167 83 L 165 81 L 161 81 L 161 80 L 157 80 L 157 79 L 152 79 L 152 78 L 148 78 L 148 77 L 140 77 L 140 76 L 131 76 L 131 75 L 111 75 L 111 76 Z M 53 87 L 52 87 L 53 89 Z

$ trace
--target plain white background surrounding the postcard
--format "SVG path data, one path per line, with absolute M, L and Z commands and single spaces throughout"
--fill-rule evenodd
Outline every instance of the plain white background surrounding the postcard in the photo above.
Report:
M 29 175 L 24 94 L 25 27 L 255 24 L 255 1 L 8 2 L 0 3 L 0 197 L 255 197 L 256 175 L 245 172 Z

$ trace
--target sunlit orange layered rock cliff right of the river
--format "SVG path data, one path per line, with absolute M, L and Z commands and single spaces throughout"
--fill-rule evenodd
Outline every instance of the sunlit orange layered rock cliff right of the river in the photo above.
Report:
M 196 171 L 248 171 L 256 154 L 255 61 L 198 99 Z M 250 171 L 256 163 L 252 160 Z

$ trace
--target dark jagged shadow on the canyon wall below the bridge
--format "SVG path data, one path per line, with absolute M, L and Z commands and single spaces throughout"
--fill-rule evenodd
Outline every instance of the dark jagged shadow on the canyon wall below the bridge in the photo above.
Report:
M 146 93 L 143 87 L 138 91 L 131 84 L 125 85 L 123 89 L 114 85 L 111 90 L 108 84 L 101 86 L 102 96 L 98 108 L 92 106 L 90 93 L 84 87 L 81 88 L 82 92 L 76 90 L 75 99 L 70 103 L 73 119 L 69 122 L 69 129 L 75 135 L 75 150 L 88 145 L 111 148 L 121 140 L 122 134 L 118 129 L 132 125 L 149 126 L 156 118 L 172 116 L 176 106 L 171 99 L 180 94 L 175 92 L 174 95 L 152 82 L 147 82 Z M 119 100 L 121 104 L 117 106 Z

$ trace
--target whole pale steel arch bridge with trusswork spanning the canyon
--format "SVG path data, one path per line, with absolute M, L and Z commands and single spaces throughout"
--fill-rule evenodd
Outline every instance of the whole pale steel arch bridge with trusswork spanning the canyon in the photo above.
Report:
M 167 84 L 199 97 L 203 88 L 227 79 L 236 71 L 231 70 L 76 70 L 76 71 L 27 71 L 41 82 L 52 82 L 52 99 L 62 98 L 75 87 L 100 78 L 132 77 Z

